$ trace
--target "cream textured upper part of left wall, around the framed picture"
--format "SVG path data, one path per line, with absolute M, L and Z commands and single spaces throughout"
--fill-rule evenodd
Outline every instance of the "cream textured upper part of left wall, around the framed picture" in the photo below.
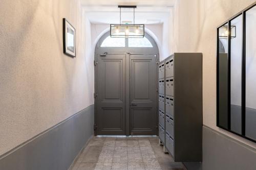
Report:
M 76 58 L 62 52 L 63 17 Z M 94 103 L 83 18 L 79 0 L 1 0 L 0 155 Z

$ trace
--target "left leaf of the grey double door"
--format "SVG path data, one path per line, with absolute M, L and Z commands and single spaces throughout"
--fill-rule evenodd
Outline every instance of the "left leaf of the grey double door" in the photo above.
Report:
M 97 134 L 125 135 L 125 55 L 97 61 Z

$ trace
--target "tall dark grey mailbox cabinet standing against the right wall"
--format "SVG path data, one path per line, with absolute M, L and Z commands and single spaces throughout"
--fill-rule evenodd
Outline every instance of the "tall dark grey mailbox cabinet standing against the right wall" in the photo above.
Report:
M 162 90 L 164 94 L 159 94 L 161 115 L 164 112 L 165 116 L 164 125 L 161 117 L 159 126 L 160 140 L 175 161 L 200 162 L 202 161 L 202 54 L 175 53 L 160 65 L 163 65 L 165 70 L 163 78 L 165 89 Z

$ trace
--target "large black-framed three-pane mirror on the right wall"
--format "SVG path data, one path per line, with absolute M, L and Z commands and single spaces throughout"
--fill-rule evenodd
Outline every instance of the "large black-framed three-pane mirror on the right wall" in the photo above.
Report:
M 217 126 L 256 142 L 256 3 L 217 29 Z

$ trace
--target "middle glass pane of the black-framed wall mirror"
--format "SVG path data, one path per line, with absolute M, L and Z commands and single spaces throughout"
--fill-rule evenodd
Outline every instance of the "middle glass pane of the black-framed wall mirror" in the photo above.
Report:
M 242 134 L 242 15 L 231 20 L 230 130 Z

